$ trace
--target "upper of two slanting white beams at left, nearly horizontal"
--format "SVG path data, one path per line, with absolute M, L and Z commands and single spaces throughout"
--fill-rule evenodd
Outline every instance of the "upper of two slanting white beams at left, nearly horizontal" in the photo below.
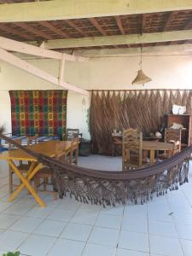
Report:
M 31 44 L 21 43 L 12 39 L 0 37 L 0 47 L 3 49 L 21 52 L 28 55 L 36 55 L 43 58 L 61 60 L 62 54 L 60 52 L 44 49 Z M 84 58 L 76 55 L 65 54 L 65 59 L 67 61 L 88 61 L 88 58 Z

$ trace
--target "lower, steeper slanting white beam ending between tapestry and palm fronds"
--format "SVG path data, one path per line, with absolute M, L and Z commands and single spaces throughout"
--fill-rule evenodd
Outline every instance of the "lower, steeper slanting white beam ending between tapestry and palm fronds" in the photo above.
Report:
M 43 79 L 45 81 L 48 81 L 51 84 L 61 85 L 67 90 L 73 90 L 75 92 L 79 92 L 83 95 L 89 95 L 89 92 L 87 90 L 83 90 L 73 84 L 68 84 L 67 82 L 61 81 L 61 84 L 59 84 L 59 79 L 55 78 L 54 76 L 50 75 L 49 73 L 44 72 L 44 70 L 34 67 L 32 64 L 20 60 L 20 58 L 16 57 L 15 55 L 7 52 L 5 49 L 0 48 L 0 60 L 3 60 L 15 67 L 18 67 L 27 73 L 31 73 L 35 75 L 36 77 Z

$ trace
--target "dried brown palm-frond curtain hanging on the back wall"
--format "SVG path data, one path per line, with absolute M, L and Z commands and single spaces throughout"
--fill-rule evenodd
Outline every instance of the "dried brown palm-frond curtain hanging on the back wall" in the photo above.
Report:
M 112 154 L 113 129 L 132 127 L 143 136 L 165 128 L 172 104 L 191 113 L 192 90 L 94 90 L 90 100 L 90 136 L 93 151 Z

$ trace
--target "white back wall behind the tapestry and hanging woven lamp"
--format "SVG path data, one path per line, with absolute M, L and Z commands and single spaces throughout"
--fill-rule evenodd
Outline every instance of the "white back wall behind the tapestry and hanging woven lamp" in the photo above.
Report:
M 191 47 L 192 49 L 192 47 Z M 143 55 L 143 71 L 152 82 L 146 89 L 192 89 L 192 52 L 172 50 L 167 54 Z M 28 60 L 37 67 L 57 75 L 58 61 Z M 96 55 L 88 62 L 68 61 L 65 70 L 65 81 L 91 89 L 143 89 L 142 85 L 132 85 L 139 68 L 138 55 Z M 51 90 L 61 89 L 24 71 L 0 61 L 0 125 L 6 125 L 11 131 L 9 90 Z M 89 97 L 69 92 L 67 97 L 67 127 L 79 128 L 84 137 L 89 137 L 86 124 L 86 109 L 89 108 Z

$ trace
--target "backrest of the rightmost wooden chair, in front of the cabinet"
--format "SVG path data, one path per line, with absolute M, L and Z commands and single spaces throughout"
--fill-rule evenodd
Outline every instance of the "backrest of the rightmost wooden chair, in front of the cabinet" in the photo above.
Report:
M 165 143 L 173 143 L 173 154 L 181 151 L 181 129 L 166 128 L 165 130 Z

